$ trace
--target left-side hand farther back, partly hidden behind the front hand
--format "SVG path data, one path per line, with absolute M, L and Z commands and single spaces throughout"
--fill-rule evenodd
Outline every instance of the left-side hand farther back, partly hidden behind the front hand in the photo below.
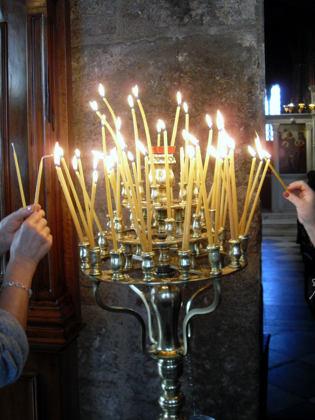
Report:
M 38 206 L 40 209 L 40 206 Z M 21 226 L 24 218 L 29 217 L 34 212 L 34 205 L 29 207 L 22 207 L 20 210 L 9 214 L 0 222 L 0 256 L 7 252 L 12 244 L 14 235 Z M 40 210 L 42 216 L 45 215 L 43 210 Z

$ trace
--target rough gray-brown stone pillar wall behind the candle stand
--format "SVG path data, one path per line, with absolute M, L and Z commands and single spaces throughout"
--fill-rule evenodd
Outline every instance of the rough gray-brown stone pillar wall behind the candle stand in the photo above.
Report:
M 158 118 L 165 122 L 171 138 L 177 91 L 189 106 L 189 130 L 200 140 L 203 157 L 208 137 L 205 115 L 215 122 L 220 109 L 226 131 L 236 142 L 237 192 L 239 202 L 244 203 L 251 162 L 247 144 L 253 144 L 253 129 L 264 139 L 262 0 L 72 0 L 71 42 L 74 136 L 87 184 L 92 178 L 90 151 L 102 149 L 100 120 L 89 101 L 96 100 L 112 123 L 98 94 L 98 84 L 102 83 L 106 98 L 121 117 L 121 133 L 135 155 L 127 97 L 137 84 L 152 144 L 156 143 Z M 144 141 L 141 116 L 135 109 L 139 137 Z M 181 111 L 177 162 L 184 121 Z M 106 138 L 109 150 L 113 141 L 109 133 Z M 213 138 L 215 144 L 215 129 Z M 179 181 L 179 163 L 174 165 L 174 173 Z M 213 161 L 208 173 L 209 191 Z M 104 175 L 99 171 L 95 206 L 103 225 L 107 214 L 104 187 Z M 177 193 L 174 187 L 174 195 Z M 194 393 L 201 412 L 216 420 L 258 417 L 262 314 L 258 210 L 251 228 L 248 267 L 223 279 L 222 304 L 217 311 L 193 321 Z M 183 289 L 184 299 L 192 290 L 193 286 Z M 81 418 L 157 418 L 160 379 L 155 361 L 140 352 L 136 320 L 100 310 L 94 304 L 91 284 L 84 278 L 81 294 L 82 316 L 87 323 L 79 338 Z M 141 301 L 127 287 L 103 288 L 103 296 L 109 304 L 125 304 L 145 316 Z M 207 304 L 210 299 L 209 294 L 199 303 Z M 182 389 L 186 411 L 192 414 L 186 365 Z

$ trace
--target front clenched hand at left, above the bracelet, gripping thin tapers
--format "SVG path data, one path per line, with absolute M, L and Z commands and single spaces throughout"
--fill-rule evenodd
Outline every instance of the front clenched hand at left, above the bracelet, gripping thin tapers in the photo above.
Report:
M 53 237 L 44 219 L 43 210 L 32 213 L 18 228 L 10 249 L 9 265 L 22 265 L 32 271 L 47 254 L 53 244 Z

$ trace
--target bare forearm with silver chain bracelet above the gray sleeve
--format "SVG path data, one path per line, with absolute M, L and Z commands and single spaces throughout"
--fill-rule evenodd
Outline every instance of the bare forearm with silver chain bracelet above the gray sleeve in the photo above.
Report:
M 34 268 L 21 264 L 10 263 L 5 271 L 5 282 L 21 283 L 28 289 L 31 288 Z M 26 328 L 27 310 L 29 305 L 29 294 L 25 289 L 16 286 L 5 286 L 0 294 L 0 309 L 9 312 L 18 320 L 21 327 Z

